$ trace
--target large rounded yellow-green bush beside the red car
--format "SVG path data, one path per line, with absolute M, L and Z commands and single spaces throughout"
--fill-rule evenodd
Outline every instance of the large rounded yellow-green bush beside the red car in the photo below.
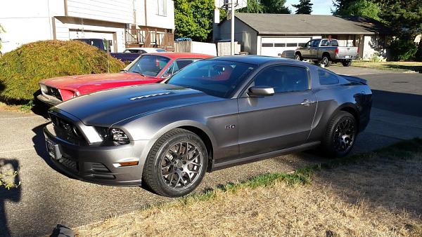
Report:
M 109 61 L 109 62 L 108 62 Z M 56 76 L 119 72 L 124 64 L 87 43 L 37 41 L 0 57 L 0 99 L 27 103 L 39 90 L 38 82 Z

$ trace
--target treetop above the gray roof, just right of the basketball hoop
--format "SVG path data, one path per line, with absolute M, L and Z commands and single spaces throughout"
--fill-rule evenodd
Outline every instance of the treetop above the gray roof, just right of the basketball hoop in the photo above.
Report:
M 290 9 L 284 6 L 286 0 L 248 0 L 248 7 L 239 9 L 239 13 L 271 13 L 290 14 Z

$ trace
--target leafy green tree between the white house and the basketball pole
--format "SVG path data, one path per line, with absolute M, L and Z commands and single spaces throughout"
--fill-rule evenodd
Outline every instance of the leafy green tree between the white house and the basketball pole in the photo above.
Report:
M 174 33 L 193 41 L 209 41 L 212 38 L 214 0 L 174 0 Z M 220 11 L 220 19 L 226 12 Z

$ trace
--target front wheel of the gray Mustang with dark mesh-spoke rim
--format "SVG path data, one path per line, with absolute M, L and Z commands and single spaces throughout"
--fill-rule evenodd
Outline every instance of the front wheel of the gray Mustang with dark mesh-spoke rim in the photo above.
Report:
M 143 166 L 143 182 L 162 196 L 184 196 L 203 180 L 207 157 L 198 135 L 180 128 L 170 130 L 151 148 Z

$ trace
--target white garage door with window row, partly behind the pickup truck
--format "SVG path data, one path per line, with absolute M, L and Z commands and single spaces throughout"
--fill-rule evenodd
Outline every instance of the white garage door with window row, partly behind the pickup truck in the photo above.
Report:
M 261 55 L 278 57 L 285 50 L 305 45 L 311 37 L 266 37 L 261 39 Z

